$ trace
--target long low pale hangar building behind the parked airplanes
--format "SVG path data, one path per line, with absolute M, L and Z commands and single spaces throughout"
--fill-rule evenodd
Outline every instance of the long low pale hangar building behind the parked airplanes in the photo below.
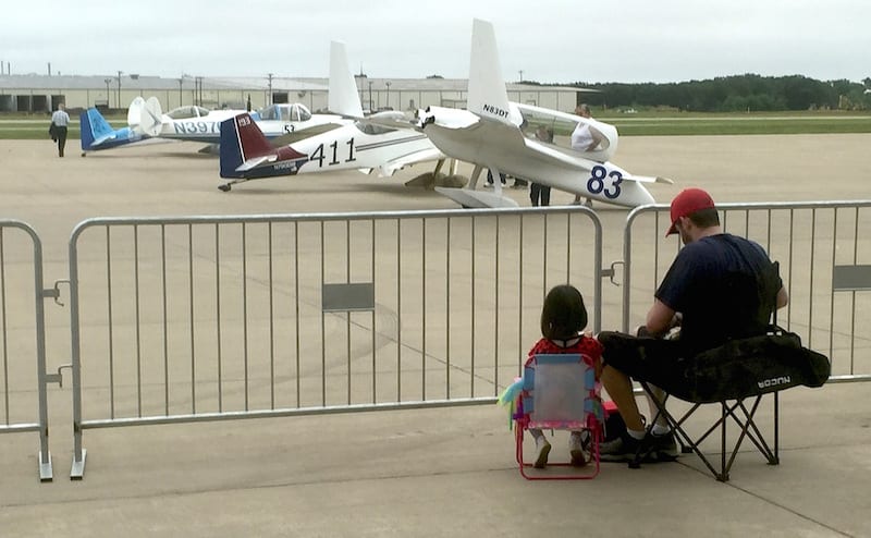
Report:
M 408 110 L 428 106 L 463 108 L 465 78 L 370 78 L 357 75 L 365 110 Z M 311 111 L 327 108 L 327 78 L 210 77 L 163 78 L 116 75 L 0 75 L 0 112 L 46 113 L 64 102 L 71 111 L 97 107 L 126 110 L 135 97 L 157 97 L 164 111 L 187 105 L 258 109 L 272 102 L 302 102 Z M 564 86 L 507 84 L 508 99 L 572 112 L 591 91 Z

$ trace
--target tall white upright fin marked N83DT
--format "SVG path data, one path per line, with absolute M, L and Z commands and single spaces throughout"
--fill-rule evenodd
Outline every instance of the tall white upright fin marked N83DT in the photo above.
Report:
M 482 118 L 513 123 L 508 93 L 500 65 L 493 25 L 475 19 L 471 28 L 467 109 Z

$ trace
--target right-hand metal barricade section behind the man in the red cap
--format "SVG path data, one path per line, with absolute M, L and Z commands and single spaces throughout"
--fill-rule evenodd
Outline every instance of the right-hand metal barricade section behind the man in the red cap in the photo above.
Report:
M 871 200 L 717 204 L 724 231 L 762 245 L 780 261 L 789 304 L 781 326 L 832 360 L 832 381 L 871 380 Z M 643 322 L 652 292 L 680 247 L 665 237 L 667 205 L 627 217 L 623 330 Z M 711 305 L 715 308 L 716 305 Z

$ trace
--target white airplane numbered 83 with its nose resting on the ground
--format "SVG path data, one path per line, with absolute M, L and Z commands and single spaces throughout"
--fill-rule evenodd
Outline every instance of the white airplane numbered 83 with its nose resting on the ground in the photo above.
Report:
M 500 172 L 621 206 L 653 204 L 642 183 L 671 183 L 664 178 L 634 175 L 609 159 L 617 148 L 617 130 L 592 119 L 541 107 L 510 102 L 499 62 L 495 35 L 489 22 L 475 20 L 471 36 L 468 109 L 429 107 L 418 126 L 444 152 L 475 164 L 465 188 L 437 187 L 464 207 L 516 207 L 503 196 L 500 182 L 492 192 L 476 191 L 481 170 Z M 578 151 L 536 138 L 538 127 L 571 133 L 587 123 L 603 136 L 593 150 Z

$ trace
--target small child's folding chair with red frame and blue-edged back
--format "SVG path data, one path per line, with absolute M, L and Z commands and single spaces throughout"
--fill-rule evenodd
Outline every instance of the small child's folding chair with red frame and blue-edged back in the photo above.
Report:
M 599 443 L 602 439 L 603 409 L 601 383 L 596 368 L 578 354 L 540 354 L 524 367 L 520 392 L 515 401 L 516 457 L 520 475 L 529 480 L 593 478 L 599 474 Z M 551 429 L 589 432 L 589 458 L 585 467 L 572 473 L 536 473 L 524 460 L 524 432 Z M 549 467 L 571 467 L 571 462 L 548 463 Z

